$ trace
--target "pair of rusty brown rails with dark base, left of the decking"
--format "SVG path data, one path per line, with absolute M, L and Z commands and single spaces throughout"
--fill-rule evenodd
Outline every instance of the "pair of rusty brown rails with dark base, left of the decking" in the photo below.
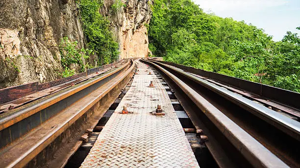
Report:
M 130 80 L 134 65 L 129 59 L 116 67 L 100 67 L 80 83 L 2 113 L 1 167 L 44 167 L 53 157 L 57 159 L 51 167 L 63 167 L 72 155 L 66 148 L 80 146 L 78 139 L 97 125 Z

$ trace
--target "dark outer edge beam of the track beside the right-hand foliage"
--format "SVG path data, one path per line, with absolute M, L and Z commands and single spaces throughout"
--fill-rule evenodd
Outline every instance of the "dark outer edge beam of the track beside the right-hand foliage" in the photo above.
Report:
M 155 61 L 155 58 L 151 60 Z M 275 109 L 276 111 L 279 110 L 285 112 L 291 116 L 294 116 L 300 121 L 300 93 L 230 77 L 215 72 L 209 72 L 194 67 L 188 67 L 177 63 L 165 61 L 157 62 L 179 68 L 182 71 L 190 73 L 191 75 L 205 79 L 210 83 L 217 84 L 230 91 L 237 92 L 244 97 L 255 100 L 268 106 L 269 108 Z

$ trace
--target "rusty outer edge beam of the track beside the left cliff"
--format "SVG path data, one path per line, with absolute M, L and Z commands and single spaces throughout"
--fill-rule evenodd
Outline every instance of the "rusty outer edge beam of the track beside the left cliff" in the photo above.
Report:
M 119 65 L 124 61 L 125 60 L 120 60 L 118 62 L 88 69 L 85 72 L 43 84 L 35 82 L 0 89 L 0 114 L 9 112 L 13 108 L 18 108 L 22 105 L 36 101 L 42 97 L 65 89 L 66 87 L 70 87 L 72 84 L 77 84 L 91 77 L 95 77 L 97 76 L 97 74 L 94 74 L 95 72 L 107 71 L 107 69 L 113 68 L 115 65 Z

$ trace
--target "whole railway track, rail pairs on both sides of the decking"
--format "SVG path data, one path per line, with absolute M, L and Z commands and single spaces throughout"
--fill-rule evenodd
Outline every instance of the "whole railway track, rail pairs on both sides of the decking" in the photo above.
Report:
M 83 144 L 79 139 L 99 130 L 99 120 L 134 76 L 137 61 L 93 70 L 76 83 L 49 87 L 21 103 L 14 100 L 20 105 L 9 111 L 12 103 L 5 103 L 0 108 L 1 167 L 64 167 Z M 294 99 L 283 98 L 300 100 L 298 93 L 274 88 L 276 96 L 269 87 L 259 90 L 174 63 L 140 61 L 159 72 L 195 128 L 203 130 L 218 167 L 300 167 L 300 108 Z

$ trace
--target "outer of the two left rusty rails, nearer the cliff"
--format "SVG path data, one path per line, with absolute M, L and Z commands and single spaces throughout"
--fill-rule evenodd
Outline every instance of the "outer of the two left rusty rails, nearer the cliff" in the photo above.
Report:
M 59 111 L 68 107 L 68 105 L 125 71 L 130 62 L 131 60 L 127 60 L 121 67 L 108 73 L 100 74 L 90 80 L 12 110 L 12 114 L 0 119 L 0 148 L 22 137 L 31 129 L 41 125 Z

